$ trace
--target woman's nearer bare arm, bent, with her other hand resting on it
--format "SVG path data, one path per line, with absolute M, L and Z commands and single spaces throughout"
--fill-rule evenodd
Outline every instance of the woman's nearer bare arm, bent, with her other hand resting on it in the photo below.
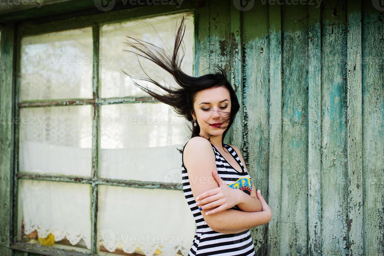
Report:
M 190 139 L 184 148 L 183 162 L 194 198 L 218 187 L 212 175 L 212 171 L 217 169 L 215 153 L 207 139 L 202 137 Z M 254 226 L 266 224 L 271 218 L 269 212 L 242 212 L 234 209 L 205 215 L 205 212 L 214 208 L 203 209 L 201 213 L 208 226 L 221 233 L 232 234 L 245 231 Z

